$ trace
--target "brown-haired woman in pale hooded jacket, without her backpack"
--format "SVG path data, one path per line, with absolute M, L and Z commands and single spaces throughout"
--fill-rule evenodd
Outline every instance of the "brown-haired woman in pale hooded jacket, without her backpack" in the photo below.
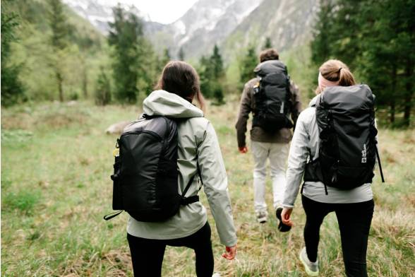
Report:
M 183 61 L 170 61 L 163 69 L 157 85 L 143 102 L 147 116 L 164 115 L 177 122 L 180 193 L 192 176 L 200 170 L 200 181 L 215 219 L 220 241 L 226 246 L 225 259 L 236 255 L 236 232 L 227 190 L 227 173 L 215 129 L 192 105 L 194 98 L 205 106 L 200 93 L 196 70 Z M 191 182 L 187 197 L 198 194 L 198 177 Z M 206 209 L 196 201 L 183 205 L 179 212 L 164 222 L 142 222 L 130 216 L 127 239 L 131 250 L 134 276 L 161 276 L 164 250 L 167 245 L 189 247 L 196 253 L 197 276 L 212 276 L 213 253 L 210 225 Z

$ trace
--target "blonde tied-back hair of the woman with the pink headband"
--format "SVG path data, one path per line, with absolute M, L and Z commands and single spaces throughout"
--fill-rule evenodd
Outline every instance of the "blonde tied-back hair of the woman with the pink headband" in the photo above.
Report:
M 338 59 L 329 59 L 318 69 L 321 76 L 327 81 L 338 82 L 339 86 L 353 86 L 356 85 L 353 74 L 349 67 Z M 315 94 L 321 93 L 320 86 L 315 88 Z

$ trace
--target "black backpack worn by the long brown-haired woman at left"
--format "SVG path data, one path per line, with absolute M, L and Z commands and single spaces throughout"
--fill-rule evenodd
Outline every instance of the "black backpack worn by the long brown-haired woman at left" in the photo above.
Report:
M 185 197 L 195 175 L 183 194 L 178 193 L 176 122 L 143 117 L 128 124 L 117 139 L 112 208 L 121 211 L 104 216 L 105 220 L 125 210 L 138 221 L 161 222 L 174 216 L 181 205 L 199 201 L 197 195 Z

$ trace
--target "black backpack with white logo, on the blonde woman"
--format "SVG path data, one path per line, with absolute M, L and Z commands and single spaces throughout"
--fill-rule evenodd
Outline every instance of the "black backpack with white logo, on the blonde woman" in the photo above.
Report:
M 338 189 L 371 183 L 377 156 L 384 182 L 376 145 L 374 95 L 368 86 L 326 88 L 315 103 L 315 117 L 319 157 L 306 164 L 304 181 L 320 181 Z

